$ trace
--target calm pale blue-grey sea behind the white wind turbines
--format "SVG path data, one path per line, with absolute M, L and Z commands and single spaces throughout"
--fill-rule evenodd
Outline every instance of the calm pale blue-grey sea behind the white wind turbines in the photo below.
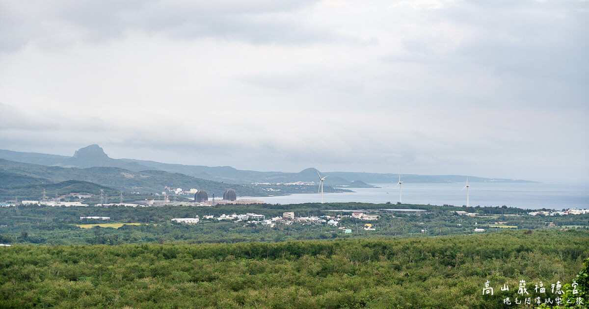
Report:
M 352 188 L 355 192 L 324 193 L 324 202 L 399 201 L 399 187 L 395 184 L 373 184 L 380 188 Z M 466 205 L 465 184 L 403 184 L 403 203 L 431 205 Z M 270 204 L 298 204 L 319 202 L 319 194 L 292 194 L 260 198 Z M 525 209 L 589 208 L 589 185 L 562 185 L 544 183 L 493 183 L 472 182 L 471 206 L 502 206 Z

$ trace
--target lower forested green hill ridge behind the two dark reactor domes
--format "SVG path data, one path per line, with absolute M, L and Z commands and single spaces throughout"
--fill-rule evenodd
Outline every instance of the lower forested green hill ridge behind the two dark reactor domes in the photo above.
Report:
M 133 172 L 116 167 L 91 167 L 91 168 L 63 168 L 48 167 L 45 165 L 28 164 L 0 159 L 0 172 L 9 175 L 18 184 L 46 184 L 48 182 L 61 182 L 67 180 L 80 180 L 93 182 L 94 184 L 122 190 L 125 192 L 154 193 L 161 192 L 164 187 L 170 188 L 196 188 L 205 190 L 209 194 L 222 196 L 227 189 L 233 189 L 240 196 L 267 196 L 267 192 L 260 188 L 247 187 L 245 185 L 224 184 L 210 180 L 190 177 L 180 173 L 166 171 L 140 171 Z M 5 184 L 2 188 L 11 189 L 11 185 Z M 14 194 L 10 194 L 14 195 Z M 14 197 L 14 196 L 13 196 Z

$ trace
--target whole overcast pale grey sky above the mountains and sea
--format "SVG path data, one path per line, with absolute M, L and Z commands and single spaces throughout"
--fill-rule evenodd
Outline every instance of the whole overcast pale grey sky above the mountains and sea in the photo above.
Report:
M 589 182 L 587 1 L 0 0 L 0 148 Z

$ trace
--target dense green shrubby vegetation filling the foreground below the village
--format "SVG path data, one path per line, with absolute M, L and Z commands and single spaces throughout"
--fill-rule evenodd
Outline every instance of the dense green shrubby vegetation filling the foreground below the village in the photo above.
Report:
M 402 240 L 0 249 L 4 308 L 513 308 L 570 283 L 587 231 Z M 482 295 L 484 283 L 494 295 Z M 509 291 L 499 287 L 508 284 Z M 525 308 L 521 306 L 518 308 Z M 529 308 L 529 306 L 528 306 Z

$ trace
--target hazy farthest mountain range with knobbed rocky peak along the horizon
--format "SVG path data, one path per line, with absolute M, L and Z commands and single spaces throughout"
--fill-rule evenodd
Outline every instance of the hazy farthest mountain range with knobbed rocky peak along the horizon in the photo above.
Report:
M 16 162 L 30 164 L 47 165 L 52 167 L 63 168 L 93 168 L 93 167 L 111 167 L 128 170 L 131 172 L 140 171 L 166 171 L 183 174 L 177 176 L 183 179 L 184 176 L 201 178 L 226 184 L 251 185 L 254 183 L 288 183 L 288 182 L 317 182 L 317 170 L 307 168 L 300 172 L 259 172 L 237 170 L 233 167 L 207 167 L 203 165 L 183 165 L 167 164 L 155 161 L 134 160 L 134 159 L 113 159 L 108 157 L 103 149 L 98 145 L 90 145 L 75 151 L 72 157 L 51 154 L 39 154 L 34 152 L 16 152 L 9 150 L 0 150 L 0 158 Z M 140 173 L 149 174 L 149 173 Z M 331 187 L 372 187 L 367 184 L 381 184 L 398 181 L 398 174 L 380 174 L 366 172 L 321 172 L 322 176 L 327 175 L 325 185 Z M 37 174 L 35 177 L 45 177 L 43 174 Z M 465 175 L 402 175 L 403 182 L 421 182 L 421 183 L 445 183 L 445 182 L 465 182 Z M 526 180 L 502 179 L 502 178 L 482 178 L 469 176 L 469 182 L 534 182 Z M 178 182 L 182 182 L 178 180 Z M 115 185 L 114 187 L 123 188 Z M 186 186 L 185 186 L 186 187 Z M 147 187 L 149 188 L 149 187 Z M 158 190 L 156 190 L 158 191 Z

